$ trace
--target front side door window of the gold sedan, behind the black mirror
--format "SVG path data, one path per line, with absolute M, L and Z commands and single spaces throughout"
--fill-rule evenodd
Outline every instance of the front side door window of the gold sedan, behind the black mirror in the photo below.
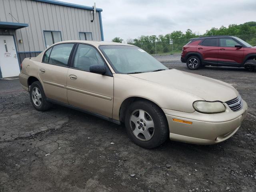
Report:
M 89 71 L 91 65 L 104 65 L 104 61 L 95 48 L 79 44 L 74 60 L 74 68 Z

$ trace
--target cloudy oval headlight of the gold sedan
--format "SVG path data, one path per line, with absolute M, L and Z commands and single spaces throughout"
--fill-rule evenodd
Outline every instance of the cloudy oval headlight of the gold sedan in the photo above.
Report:
M 193 107 L 196 111 L 201 113 L 220 113 L 226 110 L 224 104 L 219 101 L 195 101 Z

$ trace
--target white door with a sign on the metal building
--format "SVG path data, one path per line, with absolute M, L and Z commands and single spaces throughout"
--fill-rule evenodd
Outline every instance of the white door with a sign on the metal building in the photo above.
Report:
M 14 77 L 20 74 L 13 36 L 0 35 L 0 70 L 2 78 Z

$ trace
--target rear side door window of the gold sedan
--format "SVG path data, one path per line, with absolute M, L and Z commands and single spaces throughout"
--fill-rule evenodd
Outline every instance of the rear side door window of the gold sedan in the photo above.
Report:
M 48 63 L 54 65 L 68 66 L 68 59 L 74 44 L 59 44 L 52 48 Z M 46 53 L 44 58 L 46 58 Z

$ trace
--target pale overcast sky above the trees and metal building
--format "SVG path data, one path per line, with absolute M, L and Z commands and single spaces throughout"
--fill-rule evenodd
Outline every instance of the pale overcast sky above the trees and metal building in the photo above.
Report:
M 256 21 L 256 0 L 63 0 L 102 8 L 104 40 L 174 30 L 204 34 L 212 27 Z

